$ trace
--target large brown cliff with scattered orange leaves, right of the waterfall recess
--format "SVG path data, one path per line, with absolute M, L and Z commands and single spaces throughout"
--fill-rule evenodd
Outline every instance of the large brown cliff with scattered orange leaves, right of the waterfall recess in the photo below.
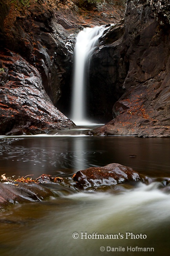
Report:
M 106 67 L 118 71 L 115 88 L 121 87 L 124 93 L 115 104 L 113 98 L 114 119 L 97 129 L 97 134 L 170 136 L 168 7 L 166 0 L 128 0 L 123 36 L 115 41 L 105 35 L 110 45 L 101 46 L 96 55 L 100 56 L 109 46 L 112 58 L 100 59 L 105 62 L 99 79 Z

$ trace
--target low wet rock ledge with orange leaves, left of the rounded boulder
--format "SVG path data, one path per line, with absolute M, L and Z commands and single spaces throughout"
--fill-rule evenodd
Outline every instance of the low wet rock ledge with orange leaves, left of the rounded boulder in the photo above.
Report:
M 38 202 L 50 197 L 62 197 L 77 191 L 76 182 L 72 178 L 51 177 L 42 174 L 35 180 L 25 177 L 12 180 L 1 176 L 0 182 L 0 210 L 11 204 Z

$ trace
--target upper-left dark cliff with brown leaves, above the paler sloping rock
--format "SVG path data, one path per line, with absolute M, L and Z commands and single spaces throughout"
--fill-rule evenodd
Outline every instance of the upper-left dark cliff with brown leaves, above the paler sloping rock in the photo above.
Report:
M 67 27 L 64 21 L 61 22 L 62 13 L 57 13 L 57 5 L 52 9 L 52 6 L 42 0 L 30 1 L 30 6 L 19 12 L 22 7 L 21 5 L 15 9 L 11 4 L 4 22 L 2 45 L 20 54 L 36 67 L 42 79 L 42 86 L 56 105 L 70 77 L 73 41 L 69 35 L 72 33 L 74 39 L 73 32 L 75 33 L 77 28 L 70 20 Z M 11 15 L 14 16 L 12 24 Z

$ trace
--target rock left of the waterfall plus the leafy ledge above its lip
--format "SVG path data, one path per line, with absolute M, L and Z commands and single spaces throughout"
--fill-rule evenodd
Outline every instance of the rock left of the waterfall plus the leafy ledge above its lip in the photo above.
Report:
M 112 0 L 91 6 L 88 10 L 71 0 L 0 0 L 0 134 L 74 126 L 55 107 L 68 114 L 75 35 L 84 26 L 123 17 Z

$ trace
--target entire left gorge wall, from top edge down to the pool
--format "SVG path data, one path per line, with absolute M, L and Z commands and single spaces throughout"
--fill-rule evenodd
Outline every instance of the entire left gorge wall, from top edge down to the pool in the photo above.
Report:
M 69 32 L 46 1 L 1 0 L 0 8 L 0 134 L 72 128 L 73 122 L 53 105 L 72 58 L 66 46 Z

